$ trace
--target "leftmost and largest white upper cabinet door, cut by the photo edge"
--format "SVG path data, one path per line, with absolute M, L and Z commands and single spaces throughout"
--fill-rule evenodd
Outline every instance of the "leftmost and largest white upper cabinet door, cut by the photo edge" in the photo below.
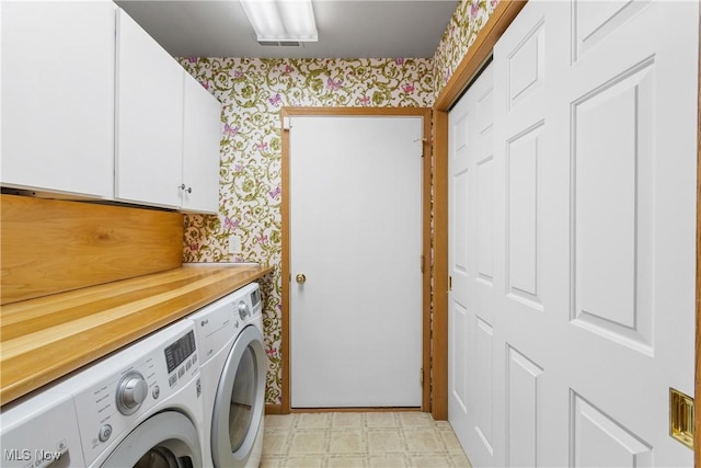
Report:
M 111 198 L 115 5 L 2 3 L 4 186 Z

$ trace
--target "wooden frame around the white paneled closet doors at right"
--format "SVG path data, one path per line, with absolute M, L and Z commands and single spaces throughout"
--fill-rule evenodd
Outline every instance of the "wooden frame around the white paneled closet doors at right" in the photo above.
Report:
M 434 104 L 434 383 L 433 415 L 436 420 L 448 418 L 448 111 L 458 102 L 485 61 L 494 45 L 512 24 L 528 0 L 502 0 L 478 34 L 473 45 L 462 58 L 455 73 L 438 94 Z M 700 15 L 701 25 L 701 15 Z M 700 26 L 701 28 L 701 26 Z M 700 35 L 701 36 L 701 35 Z M 701 37 L 699 46 L 701 77 Z M 698 175 L 697 175 L 697 290 L 696 290 L 696 376 L 694 396 L 701 395 L 701 79 L 698 95 Z M 701 411 L 694 414 L 694 466 L 701 468 L 698 456 L 701 450 Z

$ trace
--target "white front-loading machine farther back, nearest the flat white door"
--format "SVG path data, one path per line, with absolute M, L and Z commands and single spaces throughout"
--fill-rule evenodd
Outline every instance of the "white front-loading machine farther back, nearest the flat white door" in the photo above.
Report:
M 195 324 L 205 408 L 206 467 L 257 467 L 265 370 L 261 293 L 251 283 L 188 318 Z

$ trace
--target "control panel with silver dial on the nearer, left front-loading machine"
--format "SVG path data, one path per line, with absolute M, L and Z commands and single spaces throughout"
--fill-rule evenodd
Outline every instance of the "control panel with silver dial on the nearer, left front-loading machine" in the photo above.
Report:
M 193 324 L 183 320 L 59 384 L 73 395 L 85 464 L 198 378 Z

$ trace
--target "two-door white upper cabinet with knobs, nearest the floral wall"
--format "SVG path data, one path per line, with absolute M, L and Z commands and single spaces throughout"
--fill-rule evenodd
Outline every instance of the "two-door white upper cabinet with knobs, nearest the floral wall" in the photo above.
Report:
M 117 15 L 115 198 L 217 213 L 219 102 L 129 15 Z

